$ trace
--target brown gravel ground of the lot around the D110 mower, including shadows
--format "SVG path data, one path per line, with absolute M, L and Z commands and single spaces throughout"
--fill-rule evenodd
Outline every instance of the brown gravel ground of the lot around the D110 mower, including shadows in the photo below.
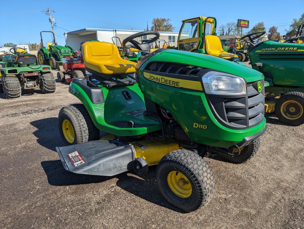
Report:
M 304 125 L 287 126 L 270 114 L 253 159 L 205 158 L 216 194 L 202 210 L 183 213 L 164 200 L 155 167 L 143 177 L 64 170 L 55 151 L 63 146 L 57 117 L 79 100 L 67 84 L 56 84 L 54 94 L 0 95 L 1 228 L 304 228 Z

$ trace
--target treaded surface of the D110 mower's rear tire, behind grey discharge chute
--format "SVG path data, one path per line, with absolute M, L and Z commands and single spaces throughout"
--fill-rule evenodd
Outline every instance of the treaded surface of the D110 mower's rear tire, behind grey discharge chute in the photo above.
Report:
M 61 108 L 59 115 L 60 113 L 66 113 L 72 120 L 71 124 L 76 127 L 75 132 L 77 131 L 77 133 L 75 137 L 78 138 L 76 144 L 99 139 L 99 130 L 95 127 L 83 104 L 76 103 L 64 106 Z

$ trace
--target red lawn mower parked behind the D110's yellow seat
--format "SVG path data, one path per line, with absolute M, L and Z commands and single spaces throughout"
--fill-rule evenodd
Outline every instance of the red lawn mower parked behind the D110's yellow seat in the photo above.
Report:
M 86 71 L 81 51 L 74 50 L 69 46 L 67 47 L 71 50 L 73 56 L 66 57 L 62 60 L 64 71 L 58 71 L 57 78 L 59 82 L 66 80 L 67 83 L 71 83 L 73 78 L 84 78 Z M 65 79 L 65 75 L 69 75 L 70 78 Z

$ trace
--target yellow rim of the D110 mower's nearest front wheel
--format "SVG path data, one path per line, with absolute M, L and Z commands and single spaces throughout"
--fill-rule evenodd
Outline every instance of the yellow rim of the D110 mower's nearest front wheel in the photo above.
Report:
M 187 198 L 192 194 L 192 186 L 188 178 L 181 172 L 171 171 L 167 176 L 170 189 L 179 197 Z

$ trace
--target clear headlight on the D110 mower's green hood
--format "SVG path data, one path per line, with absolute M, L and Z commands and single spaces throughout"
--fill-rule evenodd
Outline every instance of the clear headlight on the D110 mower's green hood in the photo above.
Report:
M 243 78 L 218 71 L 209 71 L 203 77 L 207 94 L 245 95 L 246 82 Z

